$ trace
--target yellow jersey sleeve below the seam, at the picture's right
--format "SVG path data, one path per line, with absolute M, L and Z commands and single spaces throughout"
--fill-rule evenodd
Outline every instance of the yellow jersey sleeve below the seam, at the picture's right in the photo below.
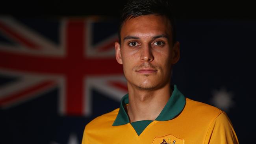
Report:
M 239 144 L 236 133 L 226 113 L 221 113 L 208 129 L 205 144 Z

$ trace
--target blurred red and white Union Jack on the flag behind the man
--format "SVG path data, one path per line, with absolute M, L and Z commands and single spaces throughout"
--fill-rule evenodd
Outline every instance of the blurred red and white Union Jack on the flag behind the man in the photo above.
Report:
M 18 78 L 0 85 L 0 107 L 22 105 L 56 87 L 56 105 L 64 115 L 91 114 L 91 88 L 119 101 L 127 88 L 115 60 L 118 38 L 112 25 L 96 18 L 63 18 L 54 26 L 56 41 L 46 35 L 50 24 L 42 23 L 38 27 L 44 30 L 38 31 L 21 20 L 0 18 L 0 75 Z

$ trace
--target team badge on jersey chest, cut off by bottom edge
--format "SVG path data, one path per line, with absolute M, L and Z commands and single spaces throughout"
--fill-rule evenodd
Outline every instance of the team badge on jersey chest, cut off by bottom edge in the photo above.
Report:
M 163 137 L 155 137 L 152 144 L 184 144 L 184 139 L 173 135 L 165 135 Z

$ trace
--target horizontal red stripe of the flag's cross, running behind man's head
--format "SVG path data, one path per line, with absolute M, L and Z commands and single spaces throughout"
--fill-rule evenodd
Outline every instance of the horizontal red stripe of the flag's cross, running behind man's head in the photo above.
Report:
M 74 47 L 72 48 L 74 49 Z M 69 71 L 74 70 L 90 75 L 122 73 L 122 65 L 117 63 L 116 59 L 112 57 L 85 59 L 80 55 L 73 55 L 67 59 L 0 51 L 0 60 L 4 61 L 4 63 L 0 61 L 0 68 L 47 74 L 67 74 Z

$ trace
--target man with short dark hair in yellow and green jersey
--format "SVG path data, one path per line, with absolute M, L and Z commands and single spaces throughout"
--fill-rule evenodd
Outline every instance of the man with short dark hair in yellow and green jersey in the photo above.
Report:
M 185 98 L 171 85 L 180 58 L 173 17 L 160 0 L 134 0 L 124 7 L 115 42 L 128 94 L 120 108 L 92 120 L 82 144 L 237 144 L 226 114 Z

